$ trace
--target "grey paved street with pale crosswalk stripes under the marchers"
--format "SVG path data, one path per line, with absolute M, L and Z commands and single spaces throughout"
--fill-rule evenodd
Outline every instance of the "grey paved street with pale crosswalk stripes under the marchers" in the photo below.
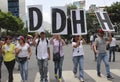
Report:
M 39 82 L 39 72 L 36 62 L 36 56 L 34 55 L 34 48 L 31 48 L 33 51 L 33 55 L 29 61 L 29 76 L 28 82 Z M 85 51 L 85 82 L 120 82 L 120 52 L 116 52 L 116 62 L 110 62 L 111 73 L 114 77 L 113 80 L 107 80 L 105 67 L 102 62 L 101 64 L 101 72 L 102 77 L 97 77 L 96 75 L 96 62 L 94 61 L 93 52 L 90 49 L 89 45 L 84 46 Z M 73 62 L 72 62 L 72 47 L 71 45 L 67 45 L 64 47 L 65 57 L 64 57 L 64 64 L 63 64 L 63 81 L 64 82 L 80 82 L 77 78 L 74 78 L 72 73 Z M 49 82 L 58 82 L 54 78 L 53 72 L 53 61 L 52 61 L 52 47 L 51 47 L 51 60 L 49 61 L 49 73 L 48 79 Z M 6 67 L 2 66 L 2 82 L 7 82 L 8 73 Z M 14 69 L 14 82 L 20 82 L 20 74 L 17 70 L 17 63 Z

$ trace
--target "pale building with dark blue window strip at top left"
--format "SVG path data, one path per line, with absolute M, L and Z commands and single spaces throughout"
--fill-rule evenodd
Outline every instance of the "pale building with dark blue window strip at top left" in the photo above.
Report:
M 26 25 L 25 0 L 0 0 L 0 10 L 20 17 Z

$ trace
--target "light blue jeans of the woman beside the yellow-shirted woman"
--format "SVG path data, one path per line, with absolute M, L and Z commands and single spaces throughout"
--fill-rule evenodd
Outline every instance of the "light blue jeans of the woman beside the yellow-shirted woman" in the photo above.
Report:
M 26 60 L 24 63 L 20 63 L 20 75 L 23 81 L 28 80 L 28 60 Z

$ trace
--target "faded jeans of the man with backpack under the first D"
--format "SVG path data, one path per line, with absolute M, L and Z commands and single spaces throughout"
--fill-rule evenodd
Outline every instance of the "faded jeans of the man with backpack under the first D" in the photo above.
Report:
M 47 73 L 48 73 L 48 59 L 38 59 L 38 67 L 39 72 L 41 75 L 41 79 L 47 79 Z

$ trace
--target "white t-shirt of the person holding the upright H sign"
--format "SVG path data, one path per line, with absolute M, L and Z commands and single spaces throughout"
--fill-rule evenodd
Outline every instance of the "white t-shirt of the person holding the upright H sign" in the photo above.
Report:
M 73 56 L 81 56 L 84 55 L 84 50 L 83 50 L 83 41 L 80 41 L 80 45 L 77 48 L 73 47 Z M 72 46 L 76 45 L 76 42 L 72 42 Z

